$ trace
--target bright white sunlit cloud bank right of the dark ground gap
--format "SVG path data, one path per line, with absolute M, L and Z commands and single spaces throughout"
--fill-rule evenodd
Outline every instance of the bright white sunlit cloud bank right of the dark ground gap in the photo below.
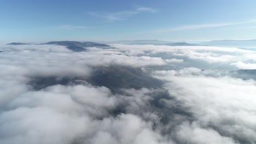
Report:
M 185 126 L 181 126 L 182 132 L 179 131 L 179 135 L 183 140 L 190 135 L 189 141 L 195 143 L 235 143 L 226 136 L 256 141 L 253 137 L 256 130 L 256 123 L 253 121 L 256 118 L 253 114 L 256 112 L 256 82 L 198 73 L 201 71 L 195 68 L 190 69 L 189 73 L 188 69 L 155 73 L 159 79 L 168 81 L 166 89 L 189 106 L 196 117 L 192 125 L 185 123 Z M 220 136 L 216 130 L 222 131 L 226 136 Z M 205 137 L 212 137 L 214 140 Z

